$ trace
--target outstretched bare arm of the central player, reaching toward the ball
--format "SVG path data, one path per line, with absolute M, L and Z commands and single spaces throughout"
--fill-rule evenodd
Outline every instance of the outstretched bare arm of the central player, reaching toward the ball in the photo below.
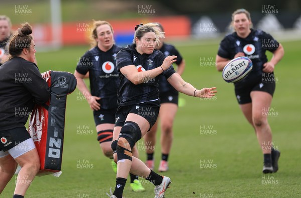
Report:
M 216 87 L 203 88 L 201 90 L 196 89 L 190 83 L 185 82 L 178 73 L 172 74 L 167 81 L 179 92 L 188 96 L 194 96 L 199 98 L 211 98 L 215 96 L 217 92 Z

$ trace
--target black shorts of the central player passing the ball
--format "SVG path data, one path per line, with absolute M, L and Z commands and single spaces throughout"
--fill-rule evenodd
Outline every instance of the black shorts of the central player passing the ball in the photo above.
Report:
M 149 124 L 149 130 L 155 124 L 160 108 L 160 100 L 144 102 L 136 105 L 119 106 L 115 116 L 115 126 L 123 126 L 127 115 L 134 113 L 145 118 Z M 148 130 L 148 131 L 149 131 Z

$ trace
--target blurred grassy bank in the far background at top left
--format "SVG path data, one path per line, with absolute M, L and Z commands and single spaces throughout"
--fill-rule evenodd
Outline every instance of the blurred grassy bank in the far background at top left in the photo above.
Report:
M 114 6 L 109 1 L 61 1 L 61 19 L 63 22 L 81 22 L 138 18 L 141 17 L 138 5 L 141 5 L 138 1 L 131 4 L 115 2 Z M 30 24 L 51 23 L 50 7 L 50 1 L 7 1 L 1 2 L 0 13 L 10 17 L 16 25 L 24 21 Z M 157 12 L 160 14 L 160 11 Z M 163 9 L 161 13 L 164 14 Z

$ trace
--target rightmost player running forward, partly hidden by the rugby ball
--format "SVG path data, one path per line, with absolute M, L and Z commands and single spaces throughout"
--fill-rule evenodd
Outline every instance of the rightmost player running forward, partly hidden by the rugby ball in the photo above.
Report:
M 264 165 L 263 173 L 278 171 L 280 152 L 272 145 L 272 131 L 267 115 L 275 91 L 275 65 L 282 59 L 284 49 L 270 34 L 252 29 L 251 16 L 245 9 L 238 9 L 232 14 L 235 32 L 225 36 L 216 55 L 216 67 L 222 71 L 229 60 L 247 56 L 253 62 L 253 69 L 247 78 L 234 83 L 235 95 L 241 111 L 254 127 L 261 146 Z M 270 61 L 266 50 L 273 53 Z

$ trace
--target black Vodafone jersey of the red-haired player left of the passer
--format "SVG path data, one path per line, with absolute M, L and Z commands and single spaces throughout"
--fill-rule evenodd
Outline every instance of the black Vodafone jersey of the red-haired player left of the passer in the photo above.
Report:
M 76 71 L 85 75 L 89 72 L 91 95 L 100 97 L 103 109 L 117 108 L 117 88 L 119 73 L 116 55 L 123 47 L 113 47 L 103 52 L 98 46 L 87 51 L 78 61 Z

